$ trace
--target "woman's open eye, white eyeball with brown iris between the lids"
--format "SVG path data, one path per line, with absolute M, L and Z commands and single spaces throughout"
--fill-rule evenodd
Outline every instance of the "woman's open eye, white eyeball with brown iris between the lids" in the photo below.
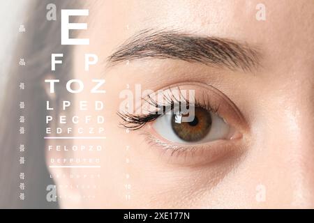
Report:
M 194 114 L 192 121 L 182 122 L 182 116 L 167 112 L 156 119 L 153 128 L 160 137 L 179 144 L 202 144 L 230 135 L 230 126 L 214 112 L 195 107 Z

